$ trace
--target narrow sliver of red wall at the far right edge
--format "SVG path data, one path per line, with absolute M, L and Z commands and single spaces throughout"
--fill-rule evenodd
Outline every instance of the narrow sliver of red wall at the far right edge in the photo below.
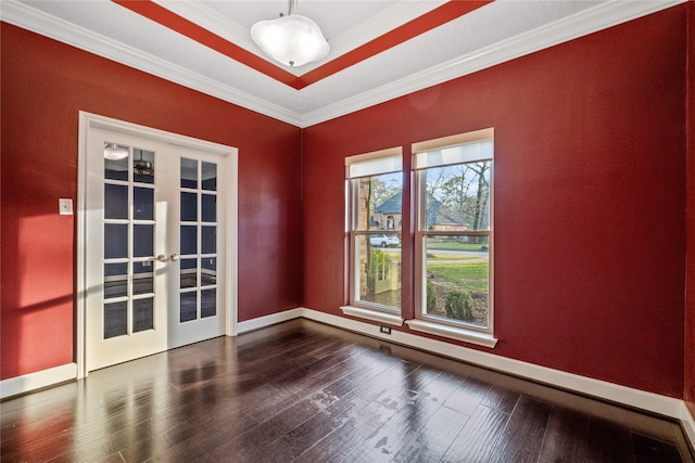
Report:
M 687 252 L 685 283 L 685 377 L 683 398 L 695 417 L 695 3 L 688 3 L 687 50 Z

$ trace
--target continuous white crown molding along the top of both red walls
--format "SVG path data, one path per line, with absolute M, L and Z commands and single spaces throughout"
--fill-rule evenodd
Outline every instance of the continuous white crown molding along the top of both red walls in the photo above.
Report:
M 75 26 L 15 0 L 3 0 L 0 14 L 2 21 L 9 24 L 135 67 L 287 124 L 305 128 L 656 13 L 685 1 L 687 0 L 603 2 L 574 15 L 519 34 L 476 52 L 462 55 L 441 65 L 305 114 L 292 112 L 262 98 L 192 73 L 181 66 L 143 53 L 132 47 L 124 46 L 121 42 Z M 404 3 L 409 2 L 404 1 Z M 432 3 L 438 4 L 434 1 Z M 414 14 L 413 11 L 409 14 Z M 356 66 L 359 66 L 359 64 Z

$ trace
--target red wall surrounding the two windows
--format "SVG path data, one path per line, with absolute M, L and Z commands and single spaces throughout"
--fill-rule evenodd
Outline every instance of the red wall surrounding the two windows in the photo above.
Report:
M 491 352 L 682 397 L 686 11 L 305 129 L 304 306 L 346 301 L 345 156 L 494 127 Z

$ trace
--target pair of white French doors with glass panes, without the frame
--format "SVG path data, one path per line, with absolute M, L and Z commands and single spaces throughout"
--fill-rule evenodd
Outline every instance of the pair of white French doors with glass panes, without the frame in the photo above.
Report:
M 226 163 L 156 138 L 88 130 L 87 371 L 225 333 Z

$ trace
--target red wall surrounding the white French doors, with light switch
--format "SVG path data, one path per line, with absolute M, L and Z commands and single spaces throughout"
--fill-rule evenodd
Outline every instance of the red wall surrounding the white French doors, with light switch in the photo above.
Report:
M 301 130 L 2 23 L 1 378 L 74 361 L 78 112 L 239 147 L 239 320 L 301 301 Z

